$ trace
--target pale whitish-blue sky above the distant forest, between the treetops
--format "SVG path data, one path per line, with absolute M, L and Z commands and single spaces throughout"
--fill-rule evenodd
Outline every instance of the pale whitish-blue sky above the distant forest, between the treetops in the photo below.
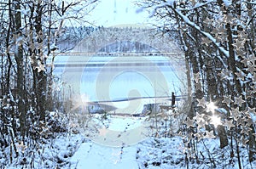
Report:
M 146 11 L 137 13 L 139 7 L 134 0 L 100 0 L 100 3 L 90 13 L 95 25 L 106 27 L 124 24 L 147 24 L 152 22 Z

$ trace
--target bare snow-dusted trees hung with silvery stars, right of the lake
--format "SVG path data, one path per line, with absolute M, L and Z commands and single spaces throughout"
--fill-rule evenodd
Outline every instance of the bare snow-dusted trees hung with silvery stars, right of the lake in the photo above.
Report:
M 165 32 L 179 31 L 187 68 L 191 69 L 191 92 L 198 104 L 190 119 L 197 114 L 218 115 L 222 125 L 217 127 L 220 146 L 228 145 L 227 131 L 237 132 L 237 142 L 249 138 L 250 161 L 253 160 L 255 137 L 238 133 L 249 127 L 255 115 L 255 8 L 252 1 L 144 1 L 139 2 L 162 20 Z M 254 31 L 253 31 L 254 30 Z M 189 75 L 188 75 L 189 76 Z M 253 89 L 254 88 L 254 89 Z M 207 102 L 214 102 L 224 112 L 206 112 Z M 191 109 L 193 110 L 193 109 Z M 238 114 L 234 110 L 238 110 Z M 246 116 L 246 117 L 245 117 Z M 248 118 L 248 119 L 247 119 Z M 247 119 L 247 120 L 246 120 Z M 207 119 L 204 119 L 206 123 Z M 235 127 L 230 128 L 230 123 Z M 232 132 L 232 133 L 235 133 Z M 236 144 L 237 145 L 237 144 Z M 237 147 L 239 154 L 239 147 Z M 239 156 L 239 155 L 238 155 Z M 240 160 L 239 160 L 240 161 Z

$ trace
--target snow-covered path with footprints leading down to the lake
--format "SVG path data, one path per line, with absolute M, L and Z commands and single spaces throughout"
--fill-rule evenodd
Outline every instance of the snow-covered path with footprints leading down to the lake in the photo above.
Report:
M 96 120 L 95 120 L 96 121 Z M 71 158 L 71 168 L 137 169 L 137 143 L 144 139 L 143 118 L 110 116 L 108 129 L 99 129 L 95 138 L 80 144 Z M 100 123 L 100 121 L 96 121 Z

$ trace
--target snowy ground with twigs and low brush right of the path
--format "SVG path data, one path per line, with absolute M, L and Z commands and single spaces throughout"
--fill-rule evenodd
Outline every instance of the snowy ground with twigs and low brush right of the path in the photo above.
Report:
M 236 152 L 234 157 L 230 153 L 230 145 L 219 148 L 218 138 L 201 139 L 195 147 L 190 145 L 190 148 L 184 147 L 181 137 L 149 138 L 137 145 L 137 163 L 140 169 L 239 168 Z M 246 147 L 241 146 L 240 158 L 241 168 L 255 168 L 256 161 L 248 162 Z

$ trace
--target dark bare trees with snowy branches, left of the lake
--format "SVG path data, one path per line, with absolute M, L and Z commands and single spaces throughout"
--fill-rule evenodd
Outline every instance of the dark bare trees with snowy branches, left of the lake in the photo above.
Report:
M 20 155 L 16 142 L 32 145 L 47 138 L 43 133 L 49 130 L 47 110 L 54 107 L 49 102 L 53 102 L 51 65 L 57 41 L 65 21 L 86 20 L 84 14 L 95 3 L 96 0 L 0 0 L 0 145 L 10 146 L 7 162 Z

